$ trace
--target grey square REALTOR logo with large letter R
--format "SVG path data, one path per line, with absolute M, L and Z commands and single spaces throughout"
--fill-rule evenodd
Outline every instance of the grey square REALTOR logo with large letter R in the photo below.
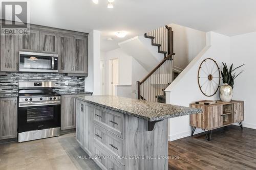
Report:
M 29 34 L 28 2 L 2 2 L 1 9 L 1 35 Z

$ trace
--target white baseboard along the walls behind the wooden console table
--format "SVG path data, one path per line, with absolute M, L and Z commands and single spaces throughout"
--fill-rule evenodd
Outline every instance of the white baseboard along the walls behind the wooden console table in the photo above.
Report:
M 238 123 L 232 124 L 232 125 L 239 126 Z M 243 122 L 243 127 L 250 128 L 250 129 L 256 129 L 256 124 L 250 124 L 250 123 Z M 197 128 L 195 130 L 194 135 L 198 134 L 198 133 L 202 133 L 202 132 L 204 132 L 204 130 Z M 188 136 L 191 136 L 191 131 L 186 131 L 186 132 L 178 133 L 175 135 L 168 135 L 168 141 L 174 141 L 174 140 L 181 139 L 181 138 L 188 137 Z

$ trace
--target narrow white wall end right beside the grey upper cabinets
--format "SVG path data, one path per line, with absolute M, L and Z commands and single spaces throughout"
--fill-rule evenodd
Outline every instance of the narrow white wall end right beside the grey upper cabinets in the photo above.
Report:
M 100 94 L 100 31 L 93 30 L 88 35 L 88 77 L 84 79 L 86 91 Z

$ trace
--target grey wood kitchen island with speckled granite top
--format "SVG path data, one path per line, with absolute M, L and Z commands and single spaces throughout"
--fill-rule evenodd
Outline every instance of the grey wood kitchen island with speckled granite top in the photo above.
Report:
M 76 99 L 76 139 L 108 170 L 168 169 L 167 118 L 201 112 L 110 95 Z

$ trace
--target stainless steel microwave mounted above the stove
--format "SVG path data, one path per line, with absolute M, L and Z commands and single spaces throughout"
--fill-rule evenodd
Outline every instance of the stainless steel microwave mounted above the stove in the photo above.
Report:
M 19 71 L 58 72 L 58 55 L 46 53 L 19 52 Z

